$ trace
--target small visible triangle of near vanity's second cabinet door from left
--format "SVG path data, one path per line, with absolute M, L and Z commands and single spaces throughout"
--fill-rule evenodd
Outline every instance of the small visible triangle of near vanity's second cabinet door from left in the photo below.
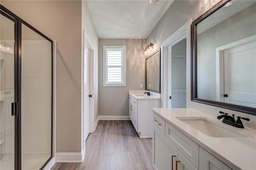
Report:
M 177 161 L 176 170 L 197 170 L 196 167 L 194 167 L 194 165 L 179 150 Z

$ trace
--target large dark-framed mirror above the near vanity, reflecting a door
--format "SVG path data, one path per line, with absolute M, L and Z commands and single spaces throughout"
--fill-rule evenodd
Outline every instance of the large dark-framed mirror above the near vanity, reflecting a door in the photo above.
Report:
M 191 100 L 256 115 L 256 0 L 223 0 L 191 28 Z

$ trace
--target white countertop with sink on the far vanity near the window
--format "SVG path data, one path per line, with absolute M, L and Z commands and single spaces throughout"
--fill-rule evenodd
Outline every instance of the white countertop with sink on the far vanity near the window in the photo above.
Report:
M 145 92 L 150 92 L 151 95 L 148 96 L 144 94 Z M 160 93 L 154 93 L 152 91 L 146 91 L 146 90 L 129 90 L 129 95 L 131 95 L 134 99 L 137 99 L 137 100 L 160 100 L 161 99 Z

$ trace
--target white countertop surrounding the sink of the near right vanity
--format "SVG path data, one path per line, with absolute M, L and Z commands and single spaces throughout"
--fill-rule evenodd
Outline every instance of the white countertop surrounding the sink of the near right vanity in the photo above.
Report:
M 256 130 L 245 127 L 244 129 L 232 127 L 221 123 L 212 115 L 194 109 L 152 109 L 166 122 L 180 130 L 183 134 L 194 140 L 202 148 L 224 162 L 230 168 L 243 170 L 256 170 Z M 215 138 L 210 137 L 195 128 L 180 121 L 176 117 L 205 117 L 217 122 L 222 127 L 238 133 L 247 133 L 254 137 Z M 231 163 L 230 163 L 231 162 Z M 232 165 L 234 164 L 234 165 Z

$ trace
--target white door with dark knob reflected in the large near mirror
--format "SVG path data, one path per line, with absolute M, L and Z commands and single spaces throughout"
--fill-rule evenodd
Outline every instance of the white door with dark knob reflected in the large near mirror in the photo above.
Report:
M 256 107 L 256 42 L 224 51 L 225 103 Z

